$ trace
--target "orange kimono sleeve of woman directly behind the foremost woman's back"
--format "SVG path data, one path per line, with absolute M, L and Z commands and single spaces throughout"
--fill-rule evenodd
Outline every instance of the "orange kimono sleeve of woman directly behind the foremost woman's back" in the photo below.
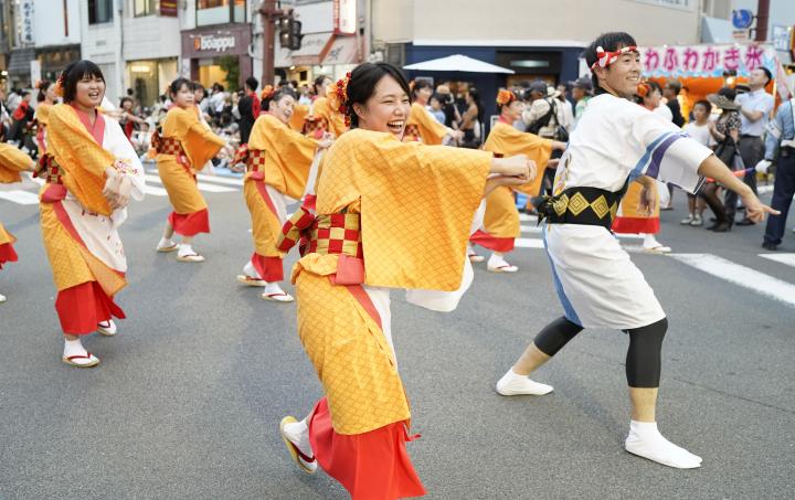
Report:
M 265 151 L 265 182 L 296 200 L 306 190 L 317 146 L 273 115 L 257 118 L 248 138 L 250 149 Z

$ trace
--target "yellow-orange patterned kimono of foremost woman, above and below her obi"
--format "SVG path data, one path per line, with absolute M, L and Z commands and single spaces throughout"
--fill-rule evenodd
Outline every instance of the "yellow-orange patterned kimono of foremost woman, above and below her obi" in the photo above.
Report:
M 367 285 L 454 290 L 490 163 L 485 151 L 354 129 L 327 153 L 317 212 L 361 214 Z M 380 319 L 352 287 L 331 283 L 339 260 L 339 254 L 310 253 L 293 270 L 299 337 L 333 429 L 362 434 L 407 423 L 409 402 Z

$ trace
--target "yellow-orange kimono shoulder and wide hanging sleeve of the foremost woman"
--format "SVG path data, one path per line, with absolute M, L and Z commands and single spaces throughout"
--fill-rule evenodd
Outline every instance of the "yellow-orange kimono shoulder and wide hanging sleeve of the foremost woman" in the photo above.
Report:
M 354 129 L 329 149 L 318 213 L 361 200 L 368 285 L 455 290 L 491 158 Z

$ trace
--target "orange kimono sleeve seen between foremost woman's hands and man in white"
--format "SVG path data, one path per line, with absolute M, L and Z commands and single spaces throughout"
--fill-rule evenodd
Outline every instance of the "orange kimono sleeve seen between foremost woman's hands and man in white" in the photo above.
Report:
M 518 190 L 531 196 L 539 194 L 543 171 L 552 155 L 552 139 L 543 139 L 534 134 L 522 132 L 510 125 L 498 123 L 486 139 L 484 149 L 505 157 L 527 155 L 529 159 L 536 161 L 536 179 L 519 187 Z

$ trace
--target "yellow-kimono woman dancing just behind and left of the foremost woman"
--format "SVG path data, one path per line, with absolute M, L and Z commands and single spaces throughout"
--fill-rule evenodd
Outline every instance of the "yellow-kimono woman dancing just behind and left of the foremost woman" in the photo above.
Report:
M 262 298 L 276 302 L 293 301 L 293 296 L 279 286 L 284 279 L 283 254 L 276 248 L 287 222 L 287 204 L 304 194 L 315 151 L 332 143 L 329 139 L 318 142 L 287 126 L 294 104 L 295 96 L 287 87 L 276 93 L 271 87 L 263 93 L 262 106 L 267 113 L 254 123 L 248 147 L 241 148 L 235 157 L 235 163 L 244 162 L 248 170 L 243 193 L 254 237 L 254 254 L 237 280 L 265 287 Z

